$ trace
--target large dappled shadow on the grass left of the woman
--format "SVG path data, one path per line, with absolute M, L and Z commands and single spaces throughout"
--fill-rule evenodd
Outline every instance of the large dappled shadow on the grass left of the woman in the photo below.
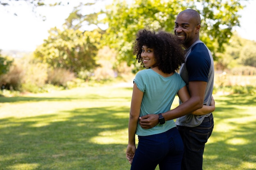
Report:
M 124 143 L 128 141 L 129 109 L 79 108 L 66 111 L 72 116 L 65 121 L 58 120 L 63 113 L 0 119 L 0 170 L 15 170 L 22 164 L 34 164 L 34 170 L 129 169 L 127 145 L 115 141 L 120 137 L 125 138 L 121 139 Z M 51 119 L 54 121 L 42 124 Z M 92 140 L 102 136 L 110 141 Z

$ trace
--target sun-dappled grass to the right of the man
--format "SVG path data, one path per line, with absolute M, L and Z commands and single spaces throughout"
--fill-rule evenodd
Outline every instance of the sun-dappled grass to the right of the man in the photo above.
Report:
M 256 117 L 245 112 L 255 107 L 256 96 L 223 96 L 216 106 L 213 133 L 206 144 L 204 169 L 255 170 L 256 169 Z M 243 106 L 243 107 L 239 107 Z M 245 168 L 246 167 L 246 168 Z

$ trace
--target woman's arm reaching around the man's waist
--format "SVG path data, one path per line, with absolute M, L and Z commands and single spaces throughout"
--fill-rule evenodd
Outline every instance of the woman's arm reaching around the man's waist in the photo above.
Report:
M 189 98 L 189 92 L 186 87 L 183 87 L 178 91 L 177 95 L 179 96 L 182 103 L 186 102 Z M 211 113 L 215 110 L 215 101 L 213 99 L 213 96 L 211 97 L 211 103 L 210 106 L 203 105 L 202 108 L 195 110 L 192 112 L 193 115 L 206 115 L 208 113 Z

